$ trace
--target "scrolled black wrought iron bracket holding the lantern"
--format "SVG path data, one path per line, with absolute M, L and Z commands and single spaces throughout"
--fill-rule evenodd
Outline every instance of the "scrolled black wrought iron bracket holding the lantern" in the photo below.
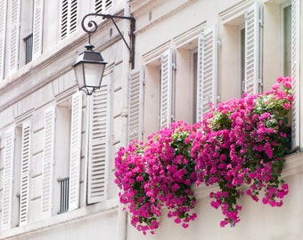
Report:
M 81 21 L 81 27 L 82 29 L 88 34 L 88 43 L 91 41 L 91 35 L 98 29 L 98 24 L 95 22 L 95 20 L 89 20 L 86 22 L 86 18 L 88 17 L 102 17 L 102 19 L 109 19 L 112 21 L 114 26 L 117 28 L 119 35 L 121 36 L 124 44 L 127 45 L 127 49 L 129 51 L 129 63 L 131 64 L 131 68 L 135 68 L 135 18 L 133 17 L 126 17 L 126 16 L 119 16 L 119 15 L 111 15 L 111 14 L 101 14 L 101 13 L 88 13 L 86 14 L 82 21 Z M 122 19 L 122 20 L 130 20 L 130 44 L 127 44 L 127 40 L 123 36 L 122 32 L 120 31 L 115 19 Z

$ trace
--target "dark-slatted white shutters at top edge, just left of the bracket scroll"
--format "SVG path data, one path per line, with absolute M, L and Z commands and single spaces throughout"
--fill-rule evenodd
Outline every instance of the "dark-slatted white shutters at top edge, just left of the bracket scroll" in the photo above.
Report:
M 61 39 L 70 35 L 78 25 L 78 0 L 61 1 Z

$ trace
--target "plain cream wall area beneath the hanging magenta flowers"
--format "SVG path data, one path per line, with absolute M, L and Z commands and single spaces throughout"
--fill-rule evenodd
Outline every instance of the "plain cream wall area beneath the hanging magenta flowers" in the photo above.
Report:
M 289 184 L 290 193 L 285 196 L 282 207 L 271 207 L 262 203 L 253 201 L 249 196 L 243 196 L 239 201 L 242 204 L 242 211 L 239 213 L 241 219 L 234 228 L 226 225 L 220 227 L 220 220 L 223 215 L 220 209 L 214 209 L 210 206 L 208 193 L 216 188 L 200 187 L 196 190 L 196 196 L 199 197 L 194 212 L 197 213 L 197 219 L 190 222 L 189 228 L 182 228 L 174 220 L 168 219 L 162 212 L 160 227 L 155 235 L 147 234 L 143 236 L 128 223 L 128 240 L 146 239 L 146 240 L 166 240 L 166 239 L 211 239 L 211 240 L 299 240 L 303 239 L 303 195 L 301 186 L 303 184 L 302 156 L 299 156 L 296 163 L 293 157 L 287 160 L 285 165 L 286 176 L 283 179 Z M 299 164 L 299 165 L 297 165 Z M 293 174 L 293 172 L 296 172 Z M 291 175 L 288 175 L 291 174 Z M 262 195 L 260 195 L 262 196 Z

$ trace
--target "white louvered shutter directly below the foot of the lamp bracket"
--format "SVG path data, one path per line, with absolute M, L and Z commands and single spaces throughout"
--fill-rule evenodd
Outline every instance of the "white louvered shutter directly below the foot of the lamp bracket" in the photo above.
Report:
M 143 68 L 130 71 L 128 81 L 127 141 L 130 143 L 143 137 Z

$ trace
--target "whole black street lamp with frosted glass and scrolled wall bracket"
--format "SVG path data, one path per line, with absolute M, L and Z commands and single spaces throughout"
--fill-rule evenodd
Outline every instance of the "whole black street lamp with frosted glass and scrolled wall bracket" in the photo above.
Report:
M 103 19 L 111 19 L 115 27 L 118 29 L 119 35 L 122 37 L 124 43 L 127 45 L 127 49 L 129 50 L 129 62 L 131 64 L 131 68 L 134 68 L 134 44 L 135 44 L 135 19 L 133 17 L 124 17 L 119 15 L 110 15 L 110 14 L 99 14 L 99 13 L 88 13 L 81 22 L 82 29 L 88 34 L 88 44 L 86 44 L 86 50 L 81 52 L 78 55 L 78 59 L 76 63 L 72 66 L 75 70 L 78 89 L 79 91 L 86 92 L 87 95 L 92 95 L 96 89 L 100 89 L 102 84 L 102 77 L 105 69 L 105 62 L 102 59 L 100 52 L 94 52 L 93 48 L 94 45 L 90 43 L 90 36 L 94 33 L 98 25 L 94 20 L 89 20 L 87 23 L 87 27 L 85 25 L 85 20 L 89 16 L 94 17 L 102 17 Z M 130 45 L 127 44 L 126 39 L 122 35 L 121 31 L 119 30 L 116 22 L 114 19 L 123 19 L 123 20 L 130 20 Z

